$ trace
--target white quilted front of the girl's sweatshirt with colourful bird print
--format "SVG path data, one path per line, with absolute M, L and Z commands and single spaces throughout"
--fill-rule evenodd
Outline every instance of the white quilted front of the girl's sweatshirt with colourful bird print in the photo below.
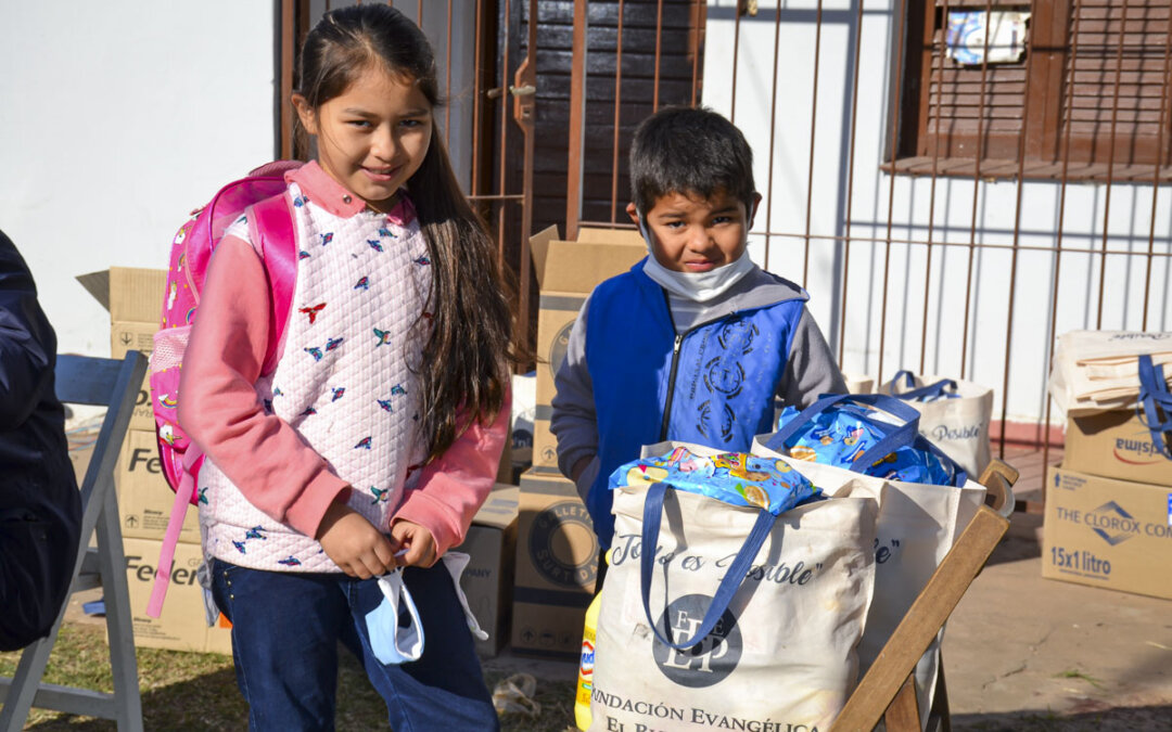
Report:
M 301 197 L 293 307 L 275 371 L 257 394 L 353 486 L 349 506 L 383 531 L 427 457 L 416 433 L 417 324 L 431 287 L 418 223 L 362 211 L 335 217 Z M 402 207 L 398 208 L 402 211 Z M 229 233 L 247 240 L 241 220 Z M 281 572 L 340 572 L 312 536 L 255 508 L 210 460 L 199 471 L 204 554 Z M 206 500 L 206 502 L 204 502 Z

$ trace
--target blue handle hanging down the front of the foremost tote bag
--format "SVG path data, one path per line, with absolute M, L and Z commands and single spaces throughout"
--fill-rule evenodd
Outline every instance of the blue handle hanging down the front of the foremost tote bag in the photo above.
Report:
M 669 638 L 660 634 L 659 628 L 655 625 L 655 618 L 652 617 L 650 606 L 655 547 L 659 545 L 660 519 L 663 515 L 663 498 L 667 494 L 667 484 L 653 483 L 647 486 L 647 495 L 643 497 L 643 546 L 642 554 L 639 557 L 639 583 L 643 596 L 643 614 L 647 616 L 647 624 L 650 627 L 652 632 L 655 634 L 655 637 L 663 645 L 683 651 L 707 638 L 708 634 L 716 627 L 716 623 L 720 622 L 721 616 L 724 615 L 724 610 L 732 602 L 736 590 L 740 589 L 741 582 L 749 573 L 752 560 L 756 559 L 757 553 L 761 552 L 761 547 L 764 546 L 765 538 L 772 531 L 777 516 L 764 508 L 757 515 L 757 522 L 752 525 L 752 531 L 749 532 L 749 536 L 745 538 L 741 550 L 737 552 L 732 563 L 729 565 L 728 572 L 724 573 L 724 579 L 717 586 L 716 594 L 713 595 L 713 602 L 708 606 L 708 611 L 704 613 L 704 620 L 700 623 L 700 628 L 696 629 L 690 639 L 682 643 L 673 643 Z M 670 627 L 667 622 L 666 601 L 663 606 L 663 630 L 670 635 Z

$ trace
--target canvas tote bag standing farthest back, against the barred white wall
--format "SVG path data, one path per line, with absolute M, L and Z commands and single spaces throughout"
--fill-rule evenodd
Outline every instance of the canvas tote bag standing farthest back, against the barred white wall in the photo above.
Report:
M 920 435 L 936 444 L 969 476 L 989 465 L 993 390 L 973 382 L 899 371 L 879 388 L 920 412 Z

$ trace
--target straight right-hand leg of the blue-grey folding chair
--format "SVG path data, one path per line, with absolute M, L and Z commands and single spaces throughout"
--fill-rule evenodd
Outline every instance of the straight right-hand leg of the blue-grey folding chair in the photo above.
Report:
M 142 698 L 138 693 L 138 662 L 135 658 L 127 559 L 118 526 L 118 499 L 108 491 L 97 522 L 97 543 L 105 598 L 105 629 L 110 641 L 110 669 L 114 672 L 114 705 L 118 732 L 142 732 Z

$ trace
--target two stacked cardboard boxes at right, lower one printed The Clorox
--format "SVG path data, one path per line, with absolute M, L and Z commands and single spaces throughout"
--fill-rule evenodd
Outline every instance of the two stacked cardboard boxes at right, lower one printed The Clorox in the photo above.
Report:
M 1133 410 L 1069 418 L 1045 494 L 1042 576 L 1172 598 L 1166 454 Z

